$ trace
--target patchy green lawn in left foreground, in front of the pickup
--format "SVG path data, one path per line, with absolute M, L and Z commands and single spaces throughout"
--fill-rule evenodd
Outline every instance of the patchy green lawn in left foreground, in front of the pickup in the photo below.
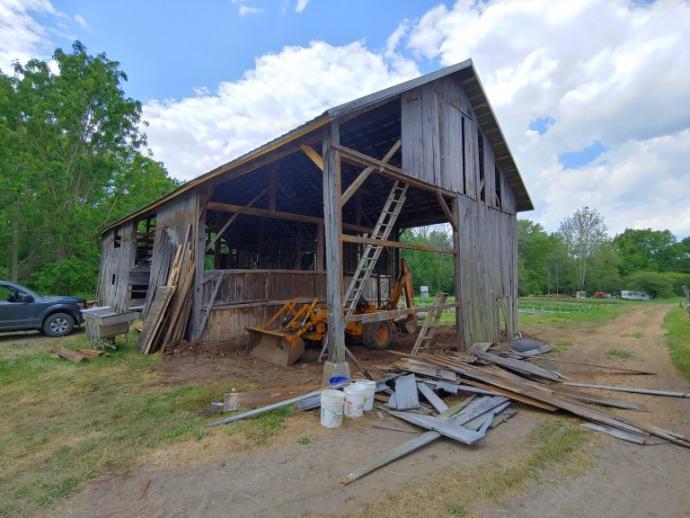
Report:
M 156 386 L 159 357 L 133 346 L 74 364 L 51 357 L 56 342 L 35 339 L 0 360 L 0 516 L 35 512 L 96 476 L 127 473 L 149 450 L 203 438 L 198 410 L 222 395 Z M 60 343 L 88 347 L 83 334 Z

